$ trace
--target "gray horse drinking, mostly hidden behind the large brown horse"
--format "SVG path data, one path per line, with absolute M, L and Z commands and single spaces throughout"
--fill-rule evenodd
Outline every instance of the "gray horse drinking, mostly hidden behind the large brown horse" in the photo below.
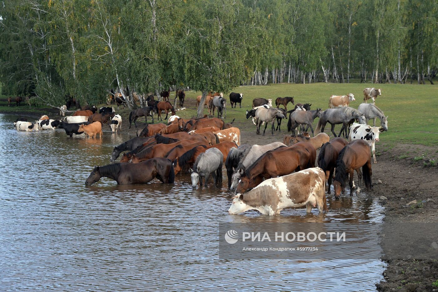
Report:
M 231 186 L 230 190 L 235 191 L 237 188 L 237 184 L 239 184 L 240 177 L 245 172 L 245 169 L 250 167 L 255 160 L 258 160 L 260 156 L 265 154 L 269 150 L 277 149 L 278 147 L 286 147 L 281 142 L 274 142 L 267 145 L 253 145 L 250 149 L 245 151 L 244 156 L 240 159 L 239 164 L 234 170 L 233 176 L 231 177 Z

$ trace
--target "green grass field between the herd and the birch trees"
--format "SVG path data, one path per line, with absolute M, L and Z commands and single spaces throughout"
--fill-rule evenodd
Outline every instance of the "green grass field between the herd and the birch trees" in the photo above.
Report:
M 329 97 L 332 94 L 343 95 L 353 93 L 356 101 L 350 106 L 357 108 L 363 102 L 363 90 L 365 87 L 378 87 L 382 89 L 382 95 L 377 98 L 376 105 L 388 116 L 388 132 L 381 134 L 382 142 L 423 144 L 426 146 L 436 146 L 438 141 L 438 86 L 436 85 L 417 85 L 417 84 L 338 84 L 338 83 L 312 83 L 312 84 L 271 84 L 266 86 L 243 86 L 237 87 L 233 91 L 244 94 L 242 108 L 231 108 L 228 94 L 224 94 L 227 99 L 226 122 L 236 118 L 237 125 L 242 130 L 255 132 L 255 126 L 251 120 L 246 120 L 245 111 L 251 109 L 252 100 L 255 97 L 272 98 L 275 105 L 276 97 L 293 96 L 296 103 L 311 103 L 312 109 L 328 108 Z M 174 92 L 173 92 L 174 94 Z M 200 92 L 187 91 L 184 111 L 177 111 L 177 115 L 189 118 L 196 115 L 195 98 Z M 174 97 L 174 95 L 173 95 Z M 171 95 L 170 101 L 173 102 Z M 6 97 L 2 97 L 4 99 Z M 24 103 L 22 103 L 24 104 Z M 289 104 L 288 109 L 293 105 Z M 21 111 L 27 111 L 26 105 L 20 107 Z M 8 108 L 2 101 L 0 112 L 16 111 L 15 106 Z M 32 112 L 37 109 L 32 108 Z M 38 111 L 39 113 L 41 111 Z M 129 111 L 124 109 L 120 112 L 127 117 Z M 204 110 L 208 113 L 207 109 Z M 318 118 L 314 121 L 314 127 Z M 372 124 L 372 121 L 370 121 Z M 377 120 L 376 125 L 380 126 Z M 286 131 L 286 121 L 283 121 L 283 131 Z M 339 133 L 340 125 L 336 126 L 335 132 Z M 268 130 L 267 130 L 268 131 Z M 330 126 L 326 126 L 325 132 L 330 131 Z

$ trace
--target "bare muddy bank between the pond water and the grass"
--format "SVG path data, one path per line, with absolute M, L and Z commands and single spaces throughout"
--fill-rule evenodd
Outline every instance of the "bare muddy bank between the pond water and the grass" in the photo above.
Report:
M 59 112 L 54 108 L 28 108 L 20 107 L 16 111 L 3 111 L 2 114 L 16 115 L 17 117 L 38 118 L 40 114 L 48 114 L 50 118 L 60 118 Z M 128 131 L 131 136 L 144 125 L 144 120 L 138 123 L 139 128 L 128 129 L 127 117 L 122 115 L 122 131 Z M 31 119 L 30 119 L 31 120 Z M 283 132 L 275 132 L 271 136 L 270 129 L 266 130 L 266 136 L 255 135 L 255 127 L 249 125 L 250 121 L 242 125 L 236 123 L 241 130 L 241 143 L 267 144 L 275 141 L 282 141 Z M 286 125 L 282 125 L 286 129 Z M 109 131 L 109 126 L 103 127 Z M 326 131 L 327 132 L 327 131 Z M 329 133 L 330 134 L 330 133 Z M 104 133 L 105 135 L 105 133 Z M 381 152 L 377 156 L 377 164 L 373 164 L 374 189 L 371 194 L 375 197 L 384 196 L 381 205 L 385 207 L 384 220 L 386 222 L 424 222 L 436 223 L 438 219 L 438 167 L 425 166 L 424 161 L 412 159 L 401 159 L 406 149 L 418 148 L 427 150 L 429 153 L 436 153 L 436 149 L 422 145 L 398 145 L 387 147 L 383 142 L 377 144 L 376 149 Z M 384 152 L 382 152 L 384 151 Z M 436 155 L 436 154 L 435 154 Z M 376 184 L 380 180 L 382 183 Z M 427 201 L 431 199 L 433 201 Z M 417 200 L 417 204 L 406 206 L 409 202 Z M 438 280 L 438 261 L 436 260 L 392 260 L 388 261 L 387 269 L 383 273 L 384 281 L 376 283 L 378 291 L 438 291 L 438 287 L 432 286 Z M 435 290 L 434 290 L 435 289 Z

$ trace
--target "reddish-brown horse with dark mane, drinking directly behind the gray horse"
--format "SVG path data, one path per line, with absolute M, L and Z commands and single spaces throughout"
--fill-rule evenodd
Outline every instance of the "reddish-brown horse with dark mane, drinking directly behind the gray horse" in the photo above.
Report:
M 231 148 L 237 147 L 237 145 L 233 142 L 225 141 L 216 145 L 212 146 L 196 146 L 193 149 L 187 151 L 181 156 L 178 156 L 176 160 L 173 162 L 173 167 L 175 168 L 175 171 L 179 172 L 181 170 L 187 170 L 193 166 L 194 161 L 199 156 L 199 154 L 204 153 L 207 149 L 210 148 L 217 148 L 222 152 L 223 154 L 223 162 L 225 162 L 226 157 L 228 156 L 228 153 L 230 152 Z

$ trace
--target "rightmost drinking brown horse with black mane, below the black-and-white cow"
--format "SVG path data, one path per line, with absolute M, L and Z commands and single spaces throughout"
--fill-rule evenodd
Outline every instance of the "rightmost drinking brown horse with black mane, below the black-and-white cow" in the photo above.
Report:
M 341 189 L 345 187 L 345 181 L 350 175 L 350 196 L 353 195 L 353 174 L 354 170 L 359 177 L 359 184 L 357 191 L 360 190 L 362 181 L 362 172 L 364 175 L 364 184 L 366 188 L 373 188 L 371 181 L 371 148 L 364 140 L 354 140 L 345 146 L 339 153 L 336 160 L 336 174 L 333 186 L 335 188 L 335 198 L 339 199 Z

